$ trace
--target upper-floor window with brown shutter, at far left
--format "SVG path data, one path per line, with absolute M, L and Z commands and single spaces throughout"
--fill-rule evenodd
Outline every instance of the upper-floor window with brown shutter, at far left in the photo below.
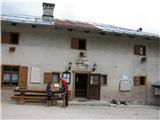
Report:
M 19 33 L 2 32 L 2 43 L 18 44 L 19 43 Z

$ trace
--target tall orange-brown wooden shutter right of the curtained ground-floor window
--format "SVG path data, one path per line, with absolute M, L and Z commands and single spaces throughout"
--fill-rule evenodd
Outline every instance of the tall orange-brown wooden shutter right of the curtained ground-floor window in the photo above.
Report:
M 20 89 L 27 88 L 27 80 L 28 80 L 28 67 L 27 66 L 20 66 L 20 72 L 19 72 L 19 87 L 20 87 Z

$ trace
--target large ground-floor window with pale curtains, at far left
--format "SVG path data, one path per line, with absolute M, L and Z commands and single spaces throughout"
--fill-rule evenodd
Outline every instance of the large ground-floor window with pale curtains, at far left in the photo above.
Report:
M 3 66 L 2 75 L 3 85 L 18 85 L 19 80 L 19 67 L 18 66 Z

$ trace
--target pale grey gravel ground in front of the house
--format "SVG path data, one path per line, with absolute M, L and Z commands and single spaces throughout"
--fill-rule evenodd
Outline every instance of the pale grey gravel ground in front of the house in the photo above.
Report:
M 43 103 L 2 103 L 2 119 L 159 119 L 158 107 L 109 107 L 70 105 L 48 107 Z

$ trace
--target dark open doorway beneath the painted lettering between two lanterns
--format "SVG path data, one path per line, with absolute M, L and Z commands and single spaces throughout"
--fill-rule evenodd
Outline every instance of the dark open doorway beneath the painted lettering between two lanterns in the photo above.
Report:
M 75 97 L 87 98 L 88 74 L 76 74 Z

